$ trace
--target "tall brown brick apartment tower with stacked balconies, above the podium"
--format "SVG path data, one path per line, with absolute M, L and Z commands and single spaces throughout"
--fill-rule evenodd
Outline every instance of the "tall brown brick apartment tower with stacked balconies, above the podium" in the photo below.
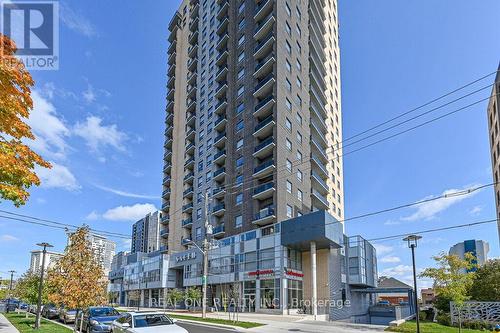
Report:
M 336 0 L 184 0 L 169 24 L 162 230 L 343 218 Z

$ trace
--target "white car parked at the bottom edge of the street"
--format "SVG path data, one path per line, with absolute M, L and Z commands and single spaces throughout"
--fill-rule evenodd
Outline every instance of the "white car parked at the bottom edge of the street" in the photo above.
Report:
M 161 312 L 125 312 L 111 324 L 113 333 L 188 333 Z

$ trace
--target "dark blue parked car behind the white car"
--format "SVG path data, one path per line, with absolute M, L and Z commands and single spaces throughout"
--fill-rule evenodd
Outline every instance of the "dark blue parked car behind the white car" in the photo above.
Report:
M 120 317 L 120 313 L 115 308 L 109 306 L 93 306 L 83 310 L 83 319 L 81 312 L 78 312 L 75 320 L 75 326 L 84 333 L 111 332 L 111 323 Z

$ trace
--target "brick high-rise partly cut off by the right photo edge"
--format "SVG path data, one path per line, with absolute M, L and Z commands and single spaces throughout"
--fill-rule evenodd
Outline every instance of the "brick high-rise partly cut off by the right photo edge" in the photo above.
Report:
M 493 179 L 495 180 L 495 202 L 497 207 L 498 240 L 500 242 L 500 64 L 488 103 L 488 125 L 491 148 Z

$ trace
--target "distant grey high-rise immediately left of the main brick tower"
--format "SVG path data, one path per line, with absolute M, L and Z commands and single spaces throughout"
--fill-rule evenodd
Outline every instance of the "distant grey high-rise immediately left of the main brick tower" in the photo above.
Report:
M 132 253 L 160 250 L 160 219 L 161 212 L 156 211 L 132 225 Z

